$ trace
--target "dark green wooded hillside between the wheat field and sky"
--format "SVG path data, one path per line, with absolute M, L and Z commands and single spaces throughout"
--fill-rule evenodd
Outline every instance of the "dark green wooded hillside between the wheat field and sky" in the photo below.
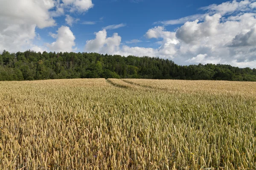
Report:
M 256 69 L 221 64 L 177 65 L 159 57 L 25 51 L 0 54 L 0 81 L 134 78 L 256 81 Z

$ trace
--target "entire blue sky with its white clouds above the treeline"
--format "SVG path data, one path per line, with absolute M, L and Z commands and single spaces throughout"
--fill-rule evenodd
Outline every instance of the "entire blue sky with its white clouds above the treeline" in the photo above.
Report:
M 256 68 L 256 0 L 0 0 L 3 50 Z

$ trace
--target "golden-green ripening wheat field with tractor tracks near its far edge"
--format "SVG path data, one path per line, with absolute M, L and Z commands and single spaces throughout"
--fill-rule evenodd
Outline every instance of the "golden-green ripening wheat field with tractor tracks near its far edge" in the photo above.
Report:
M 255 82 L 0 82 L 0 169 L 255 170 L 255 118 Z

